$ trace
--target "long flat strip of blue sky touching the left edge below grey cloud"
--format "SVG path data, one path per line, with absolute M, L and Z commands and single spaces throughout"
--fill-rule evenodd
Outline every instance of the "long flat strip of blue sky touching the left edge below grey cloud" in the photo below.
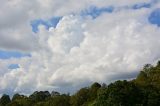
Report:
M 22 58 L 22 57 L 31 57 L 31 55 L 28 53 L 21 53 L 18 51 L 0 50 L 0 59 Z

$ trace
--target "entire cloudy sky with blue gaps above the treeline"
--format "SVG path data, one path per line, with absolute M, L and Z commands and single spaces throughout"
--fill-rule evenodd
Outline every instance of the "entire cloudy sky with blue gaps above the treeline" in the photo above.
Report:
M 0 95 L 73 93 L 160 60 L 160 0 L 0 1 Z

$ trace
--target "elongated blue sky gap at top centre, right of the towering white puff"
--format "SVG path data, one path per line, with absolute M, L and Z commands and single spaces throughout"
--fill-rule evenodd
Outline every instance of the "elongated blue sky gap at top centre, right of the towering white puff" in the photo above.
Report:
M 82 10 L 80 15 L 81 16 L 91 16 L 93 19 L 95 19 L 104 12 L 112 13 L 113 11 L 114 11 L 113 6 L 103 7 L 103 8 L 98 8 L 96 6 L 90 6 L 88 9 Z

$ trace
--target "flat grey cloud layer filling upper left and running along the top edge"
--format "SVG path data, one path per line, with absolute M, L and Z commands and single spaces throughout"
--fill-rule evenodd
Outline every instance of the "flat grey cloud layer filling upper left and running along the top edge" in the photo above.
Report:
M 0 48 L 33 51 L 39 47 L 32 33 L 30 22 L 36 19 L 47 20 L 53 16 L 80 13 L 95 6 L 98 8 L 132 6 L 137 3 L 150 3 L 151 0 L 2 0 L 0 5 Z M 5 11 L 5 12 L 4 12 Z M 29 44 L 24 42 L 30 42 Z

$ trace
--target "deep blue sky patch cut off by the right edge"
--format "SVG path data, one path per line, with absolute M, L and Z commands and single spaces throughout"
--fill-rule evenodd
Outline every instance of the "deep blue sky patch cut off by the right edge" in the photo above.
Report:
M 148 21 L 151 24 L 155 24 L 160 27 L 160 8 L 157 8 L 151 12 L 150 16 L 148 17 Z

